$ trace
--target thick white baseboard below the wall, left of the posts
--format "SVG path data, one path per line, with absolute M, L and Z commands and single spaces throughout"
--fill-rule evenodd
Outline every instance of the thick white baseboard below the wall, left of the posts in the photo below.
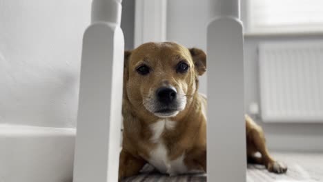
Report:
M 0 181 L 72 181 L 75 129 L 0 125 Z

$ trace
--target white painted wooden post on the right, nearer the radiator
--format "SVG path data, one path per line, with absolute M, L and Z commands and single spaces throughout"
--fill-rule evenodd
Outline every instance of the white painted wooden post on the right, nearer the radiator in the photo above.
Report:
M 208 25 L 208 181 L 246 181 L 244 57 L 239 0 L 217 0 Z

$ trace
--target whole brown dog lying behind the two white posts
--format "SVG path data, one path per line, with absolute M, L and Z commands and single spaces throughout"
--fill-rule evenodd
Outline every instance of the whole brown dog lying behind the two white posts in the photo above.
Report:
M 206 172 L 206 98 L 197 92 L 206 54 L 177 43 L 145 43 L 125 52 L 124 62 L 119 179 L 138 174 L 146 163 L 170 175 Z M 268 154 L 262 128 L 248 116 L 246 140 L 248 162 L 286 172 Z

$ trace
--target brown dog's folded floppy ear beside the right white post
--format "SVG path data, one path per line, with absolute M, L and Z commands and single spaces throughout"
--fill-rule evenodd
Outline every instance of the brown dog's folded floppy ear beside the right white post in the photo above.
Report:
M 204 74 L 206 72 L 206 54 L 203 50 L 198 48 L 190 48 L 190 56 L 192 56 L 195 70 L 199 75 Z

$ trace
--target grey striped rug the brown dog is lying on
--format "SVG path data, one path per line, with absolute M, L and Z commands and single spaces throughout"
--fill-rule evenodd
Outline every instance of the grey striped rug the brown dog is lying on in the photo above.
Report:
M 273 174 L 262 165 L 248 165 L 247 182 L 323 182 L 323 153 L 274 153 L 275 159 L 288 165 L 286 174 Z M 145 165 L 141 174 L 123 182 L 205 182 L 206 174 L 167 176 L 159 174 L 151 165 Z

